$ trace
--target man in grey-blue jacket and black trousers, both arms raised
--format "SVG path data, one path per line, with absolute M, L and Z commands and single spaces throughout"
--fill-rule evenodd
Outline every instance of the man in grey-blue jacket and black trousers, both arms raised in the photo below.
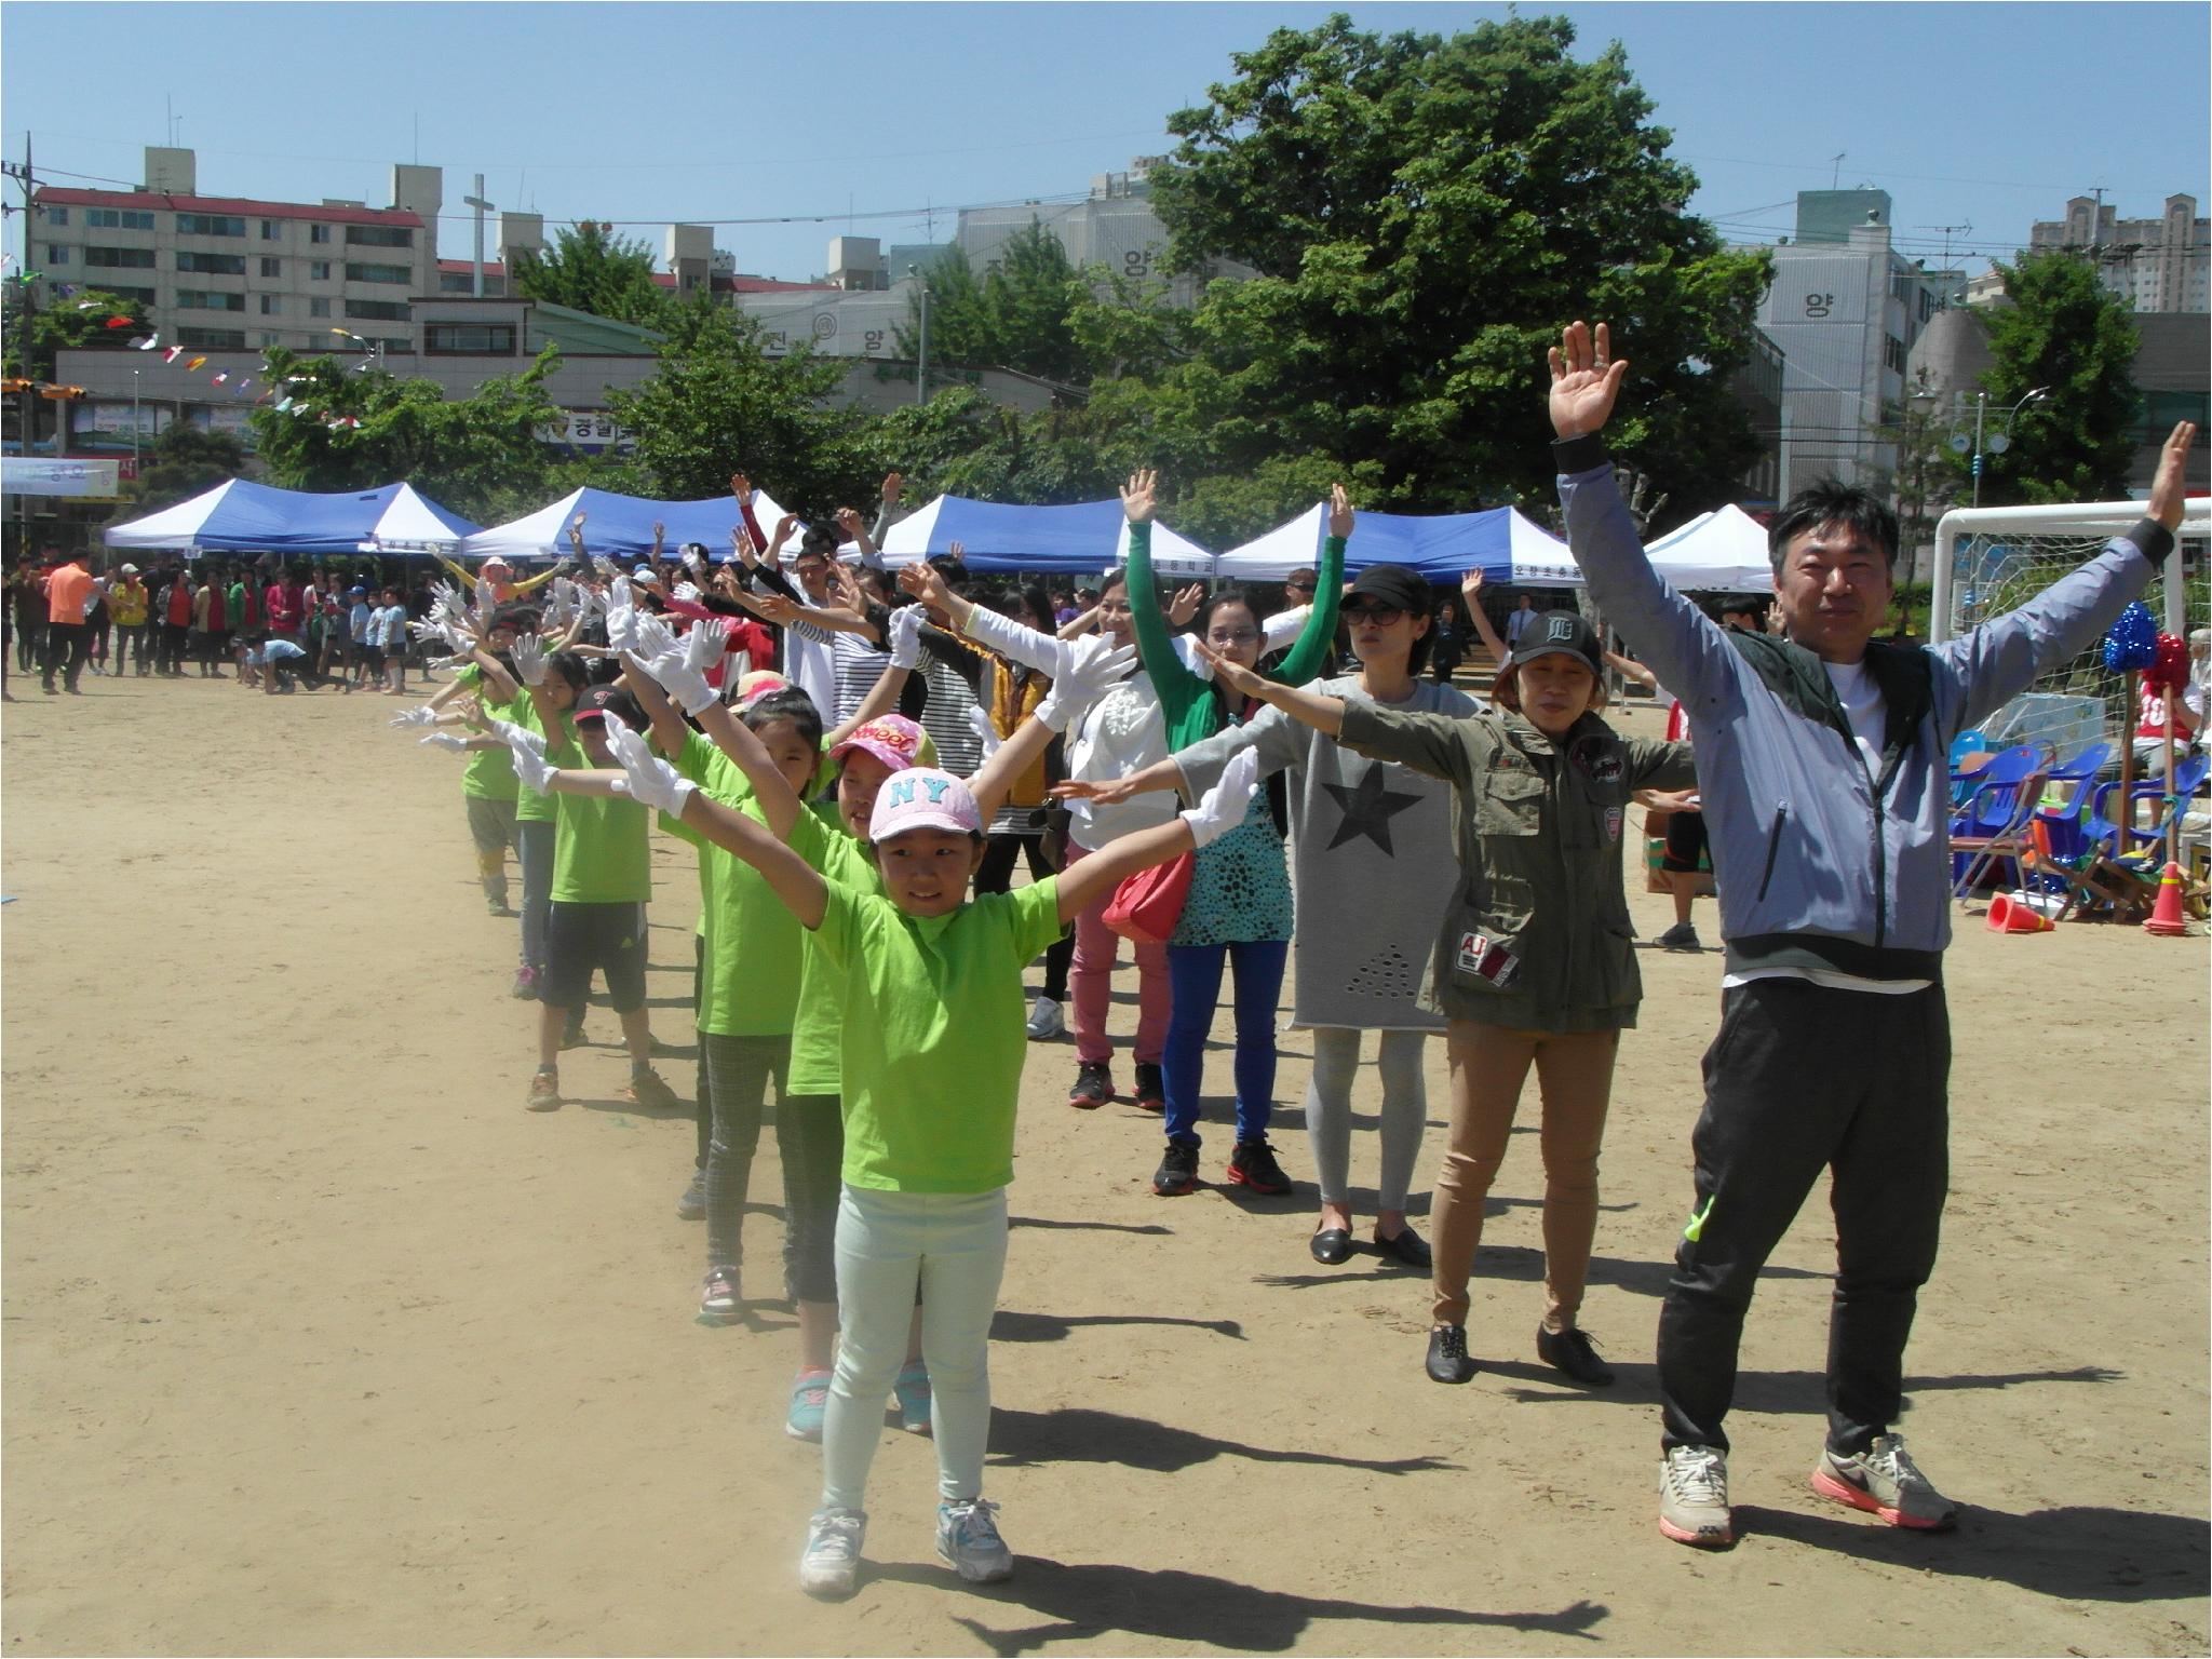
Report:
M 1770 531 L 1774 639 L 1723 633 L 1644 557 L 1599 442 L 1626 369 L 1604 325 L 1571 325 L 1551 354 L 1559 500 L 1590 595 L 1690 714 L 1728 947 L 1692 1137 L 1697 1206 L 1659 1314 L 1659 1531 L 1734 1542 L 1721 1420 L 1743 1314 L 1823 1168 L 1836 1294 L 1812 1486 L 1893 1526 L 1942 1528 L 1958 1506 L 1893 1422 L 1949 1181 L 1947 754 L 2095 644 L 2172 551 L 2197 427 L 2174 427 L 2135 529 L 2017 611 L 1929 648 L 1874 639 L 1896 515 L 1836 482 L 1803 491 Z

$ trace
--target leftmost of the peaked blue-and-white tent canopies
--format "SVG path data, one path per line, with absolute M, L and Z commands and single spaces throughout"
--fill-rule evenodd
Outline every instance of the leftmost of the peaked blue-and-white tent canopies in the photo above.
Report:
M 414 484 L 314 493 L 232 478 L 206 495 L 102 531 L 117 549 L 215 549 L 228 553 L 425 553 L 449 551 L 476 529 L 418 495 Z

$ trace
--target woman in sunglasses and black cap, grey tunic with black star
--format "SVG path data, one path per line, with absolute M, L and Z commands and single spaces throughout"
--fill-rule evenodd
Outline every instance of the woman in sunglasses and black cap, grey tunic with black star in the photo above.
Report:
M 1420 677 L 1433 644 L 1429 584 L 1402 564 L 1358 575 L 1343 622 L 1360 661 L 1356 675 L 1312 686 L 1389 710 L 1460 719 L 1482 710 L 1473 697 Z M 1374 1248 L 1427 1272 L 1429 1245 L 1407 1225 L 1407 1188 L 1420 1159 L 1429 1102 L 1422 1051 L 1442 1015 L 1418 1004 L 1420 964 L 1436 936 L 1429 876 L 1451 863 L 1451 785 L 1343 748 L 1334 737 L 1263 708 L 1168 761 L 1133 772 L 1102 792 L 1117 801 L 1148 790 L 1210 787 L 1230 757 L 1252 748 L 1261 776 L 1296 770 L 1290 790 L 1298 898 L 1298 987 L 1292 1026 L 1314 1033 L 1305 1091 L 1305 1133 L 1321 1181 L 1314 1261 L 1352 1256 L 1352 1077 L 1360 1033 L 1378 1033 L 1383 1073 L 1383 1172 L 1376 1183 Z

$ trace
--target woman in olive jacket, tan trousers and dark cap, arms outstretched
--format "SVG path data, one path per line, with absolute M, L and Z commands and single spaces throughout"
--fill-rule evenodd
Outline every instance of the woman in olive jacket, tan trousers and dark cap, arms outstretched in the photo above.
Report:
M 1214 653 L 1206 653 L 1212 657 Z M 1597 635 L 1551 611 L 1498 670 L 1500 714 L 1418 714 L 1279 686 L 1214 659 L 1232 690 L 1274 703 L 1347 750 L 1453 785 L 1460 883 L 1422 1006 L 1447 1020 L 1451 1150 L 1436 1177 L 1429 1376 L 1467 1383 L 1467 1276 L 1482 1199 L 1535 1066 L 1544 1097 L 1544 1323 L 1537 1356 L 1593 1387 L 1613 1380 L 1577 1327 L 1597 1232 L 1597 1148 L 1637 975 L 1621 847 L 1637 790 L 1697 781 L 1688 743 L 1619 737 L 1597 710 Z

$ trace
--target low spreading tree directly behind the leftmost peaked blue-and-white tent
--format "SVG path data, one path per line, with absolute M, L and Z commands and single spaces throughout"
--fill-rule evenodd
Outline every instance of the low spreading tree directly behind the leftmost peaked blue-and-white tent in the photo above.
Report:
M 268 374 L 292 407 L 263 405 L 250 422 L 268 482 L 279 489 L 374 489 L 409 482 L 480 524 L 542 507 L 566 471 L 538 436 L 560 420 L 544 380 L 560 361 L 546 347 L 522 374 L 447 398 L 436 380 L 361 372 L 332 356 L 268 347 Z M 334 427 L 334 420 L 358 420 Z

